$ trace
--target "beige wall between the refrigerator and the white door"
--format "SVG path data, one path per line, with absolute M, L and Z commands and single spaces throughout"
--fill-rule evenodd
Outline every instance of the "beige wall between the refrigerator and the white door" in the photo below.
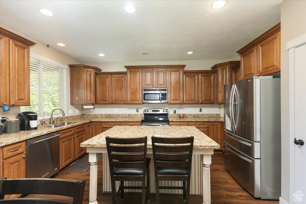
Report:
M 286 43 L 306 33 L 306 1 L 281 3 L 282 199 L 289 203 L 289 51 Z

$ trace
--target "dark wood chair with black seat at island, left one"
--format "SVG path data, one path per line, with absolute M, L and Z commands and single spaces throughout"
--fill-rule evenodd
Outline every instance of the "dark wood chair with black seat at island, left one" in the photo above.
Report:
M 142 204 L 150 201 L 151 159 L 147 158 L 147 137 L 113 138 L 106 137 L 108 160 L 110 164 L 110 181 L 112 188 L 112 204 L 115 204 L 119 193 L 124 200 L 124 189 L 142 189 Z M 147 176 L 147 186 L 145 178 Z M 115 181 L 120 181 L 116 193 Z M 124 186 L 124 181 L 142 181 L 142 186 Z M 117 195 L 116 195 L 117 194 Z

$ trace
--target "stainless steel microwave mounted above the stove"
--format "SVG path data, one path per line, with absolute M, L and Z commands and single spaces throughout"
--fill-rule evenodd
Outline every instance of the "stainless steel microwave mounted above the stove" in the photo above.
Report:
M 142 89 L 143 103 L 167 103 L 168 89 Z

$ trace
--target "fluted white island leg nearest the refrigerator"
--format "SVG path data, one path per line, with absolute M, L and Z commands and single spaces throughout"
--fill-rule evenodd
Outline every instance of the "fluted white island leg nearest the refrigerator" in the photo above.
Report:
M 203 204 L 211 204 L 210 165 L 211 154 L 201 155 L 203 168 Z

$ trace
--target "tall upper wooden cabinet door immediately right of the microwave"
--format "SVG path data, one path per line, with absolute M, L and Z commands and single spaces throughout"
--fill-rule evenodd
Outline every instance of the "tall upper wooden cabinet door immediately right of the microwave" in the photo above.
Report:
M 183 69 L 169 69 L 168 103 L 183 103 Z

